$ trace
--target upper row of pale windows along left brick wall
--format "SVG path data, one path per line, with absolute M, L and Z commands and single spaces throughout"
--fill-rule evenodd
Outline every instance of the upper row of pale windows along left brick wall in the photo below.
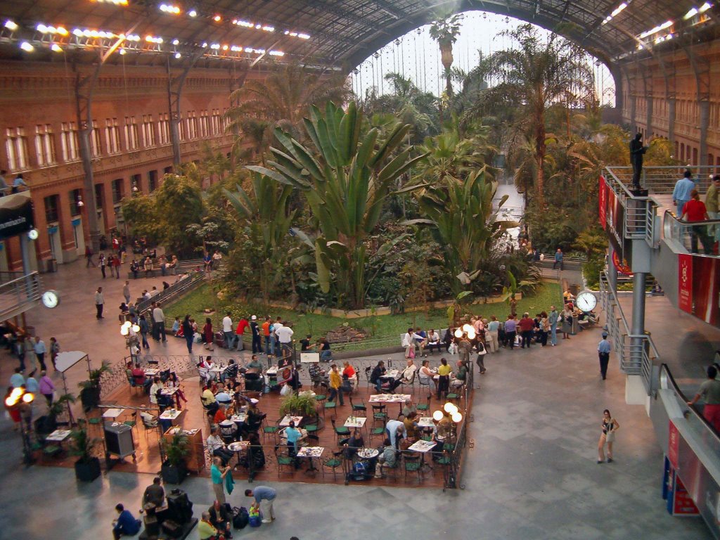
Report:
M 220 114 L 220 109 L 200 111 L 199 117 L 195 111 L 180 115 L 180 140 L 194 140 L 221 135 L 228 127 L 229 120 Z M 120 124 L 117 118 L 107 118 L 104 127 L 99 126 L 97 120 L 92 121 L 90 132 L 90 153 L 96 158 L 102 155 L 117 154 L 122 151 L 138 150 L 140 144 L 143 148 L 152 148 L 156 145 L 170 143 L 170 115 L 161 112 L 157 120 L 152 114 L 143 114 L 142 122 L 134 116 L 126 116 L 122 125 L 124 137 L 120 137 Z M 5 130 L 5 151 L 7 167 L 10 171 L 24 171 L 30 168 L 28 139 L 30 135 L 24 127 L 8 127 Z M 40 124 L 35 126 L 35 158 L 38 167 L 46 167 L 58 163 L 55 150 L 55 133 L 53 125 Z M 60 159 L 63 163 L 77 161 L 80 158 L 78 143 L 78 127 L 76 122 L 60 123 Z

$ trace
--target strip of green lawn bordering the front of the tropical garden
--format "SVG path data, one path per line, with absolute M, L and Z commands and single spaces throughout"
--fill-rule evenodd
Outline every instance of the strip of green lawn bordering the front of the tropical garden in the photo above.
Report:
M 518 302 L 518 313 L 525 311 L 530 312 L 531 316 L 541 310 L 549 311 L 550 305 L 561 305 L 560 286 L 556 283 L 545 283 L 537 290 L 536 294 L 531 297 L 523 298 Z M 198 289 L 187 294 L 167 307 L 165 307 L 166 316 L 183 318 L 189 313 L 199 325 L 202 326 L 207 315 L 203 313 L 205 308 L 217 309 L 218 311 L 212 315 L 212 325 L 214 328 L 220 328 L 220 320 L 225 316 L 225 312 L 230 310 L 233 313 L 233 320 L 237 321 L 240 315 L 258 315 L 258 318 L 264 315 L 271 315 L 275 318 L 282 317 L 292 323 L 295 336 L 305 336 L 312 334 L 313 338 L 324 336 L 328 330 L 338 328 L 343 323 L 366 331 L 369 337 L 372 337 L 374 346 L 382 346 L 398 342 L 398 338 L 402 333 L 412 326 L 416 328 L 420 326 L 425 330 L 430 328 L 446 328 L 447 316 L 445 310 L 431 310 L 424 312 L 407 312 L 400 315 L 382 315 L 378 317 L 367 317 L 361 319 L 341 319 L 330 317 L 330 315 L 304 315 L 291 310 L 282 310 L 275 307 L 266 308 L 261 306 L 242 305 L 228 301 L 214 300 L 212 290 L 209 284 L 203 284 Z M 508 305 L 503 304 L 485 304 L 470 306 L 470 310 L 474 315 L 482 315 L 490 318 L 490 315 L 497 316 L 500 320 L 504 320 L 508 315 Z M 359 343 L 348 348 L 361 348 Z

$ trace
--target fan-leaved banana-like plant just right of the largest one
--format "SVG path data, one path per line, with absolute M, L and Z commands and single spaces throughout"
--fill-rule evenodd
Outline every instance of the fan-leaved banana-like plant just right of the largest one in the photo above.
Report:
M 433 184 L 415 194 L 425 219 L 408 220 L 408 225 L 430 225 L 438 243 L 445 251 L 446 263 L 453 276 L 454 294 L 479 274 L 480 263 L 487 256 L 495 240 L 505 230 L 518 227 L 514 221 L 498 220 L 492 210 L 492 199 L 498 182 L 485 178 L 485 168 L 473 171 L 464 183 Z M 504 195 L 498 210 L 508 199 Z

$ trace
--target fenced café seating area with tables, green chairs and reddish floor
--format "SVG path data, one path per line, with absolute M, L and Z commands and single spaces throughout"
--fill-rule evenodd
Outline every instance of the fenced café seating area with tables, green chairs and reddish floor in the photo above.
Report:
M 83 419 L 93 438 L 107 439 L 108 426 L 128 426 L 132 460 L 127 451 L 120 454 L 113 470 L 156 474 L 163 468 L 163 445 L 176 434 L 187 438 L 186 469 L 204 477 L 210 475 L 212 457 L 221 456 L 236 479 L 257 482 L 447 487 L 462 464 L 459 441 L 464 441 L 465 417 L 472 406 L 472 390 L 464 386 L 440 400 L 430 392 L 433 383 L 399 385 L 397 392 L 402 393 L 397 394 L 377 393 L 374 384 L 360 377 L 361 365 L 372 363 L 362 359 L 352 361 L 358 364 L 359 377 L 351 391 L 343 391 L 341 403 L 339 395 L 328 400 L 322 375 L 312 382 L 307 364 L 298 364 L 300 387 L 294 400 L 302 410 L 288 410 L 292 392 L 282 389 L 292 366 L 265 368 L 255 375 L 252 369 L 218 364 L 178 374 L 163 361 L 147 358 L 139 371 L 133 367 L 127 384 L 120 384 Z M 397 377 L 396 371 L 385 377 Z M 140 380 L 140 372 L 152 384 Z M 52 444 L 43 450 L 42 464 L 71 466 L 62 435 L 48 437 Z M 389 437 L 396 451 L 388 461 L 384 442 Z M 111 446 L 112 441 L 104 441 L 96 454 L 104 447 L 118 457 Z

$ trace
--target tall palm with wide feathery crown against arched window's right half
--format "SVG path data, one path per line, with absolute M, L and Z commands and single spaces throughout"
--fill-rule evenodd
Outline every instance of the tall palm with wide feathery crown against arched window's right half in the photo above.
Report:
M 471 114 L 482 117 L 497 104 L 513 104 L 519 120 L 516 129 L 524 130 L 533 140 L 536 161 L 538 202 L 544 207 L 544 161 L 546 155 L 546 109 L 564 101 L 568 89 L 578 102 L 593 101 L 593 70 L 585 61 L 585 52 L 553 34 L 548 40 L 531 24 L 500 32 L 508 35 L 517 48 L 498 50 L 483 58 L 475 68 L 476 76 L 491 78 L 498 84 L 483 92 Z

